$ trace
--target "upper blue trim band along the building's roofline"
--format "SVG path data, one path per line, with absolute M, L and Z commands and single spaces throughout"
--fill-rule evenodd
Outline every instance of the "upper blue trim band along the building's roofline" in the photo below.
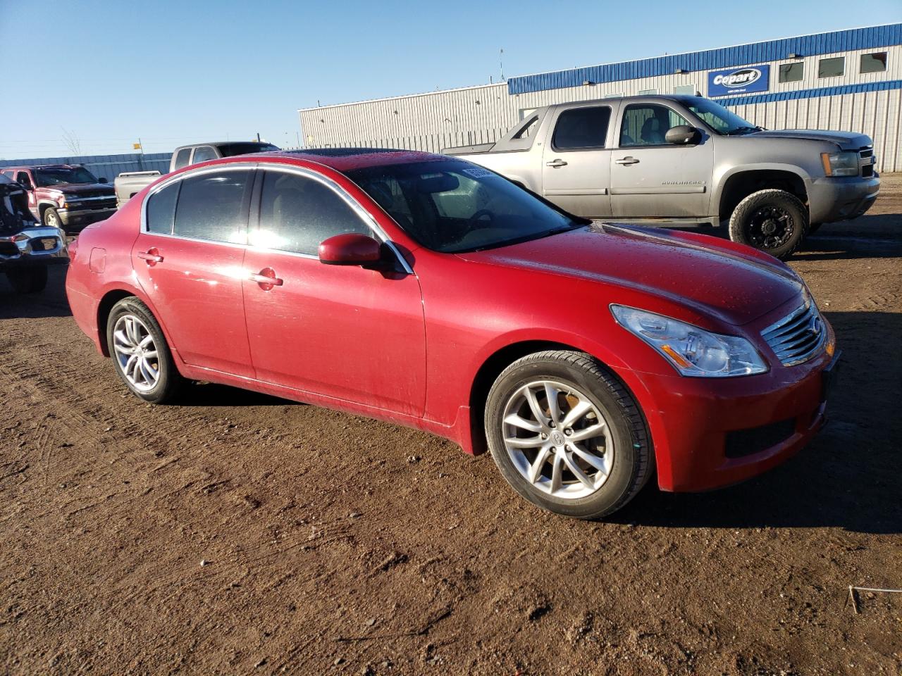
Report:
M 687 54 L 622 61 L 582 69 L 557 70 L 538 75 L 525 75 L 508 80 L 509 94 L 527 94 L 546 89 L 578 87 L 586 80 L 594 83 L 619 82 L 658 75 L 673 75 L 676 69 L 713 70 L 732 66 L 748 66 L 787 58 L 787 54 L 815 56 L 837 51 L 870 50 L 902 44 L 902 23 L 847 31 L 821 32 L 797 38 L 753 42 L 718 50 L 693 51 Z

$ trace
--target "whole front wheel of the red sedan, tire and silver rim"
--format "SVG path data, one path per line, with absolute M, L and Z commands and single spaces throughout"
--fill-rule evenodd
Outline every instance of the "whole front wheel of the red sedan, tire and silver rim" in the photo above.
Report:
M 537 352 L 495 380 L 485 435 L 523 498 L 563 516 L 607 516 L 634 498 L 654 460 L 639 406 L 584 352 Z

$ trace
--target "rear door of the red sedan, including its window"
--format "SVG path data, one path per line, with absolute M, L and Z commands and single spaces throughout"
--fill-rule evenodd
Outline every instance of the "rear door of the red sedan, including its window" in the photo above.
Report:
M 253 167 L 182 174 L 145 199 L 132 265 L 192 366 L 253 378 L 241 288 Z

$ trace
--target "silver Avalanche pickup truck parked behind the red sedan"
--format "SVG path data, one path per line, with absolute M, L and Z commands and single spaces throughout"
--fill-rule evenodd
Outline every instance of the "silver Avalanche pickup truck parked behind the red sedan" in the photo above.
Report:
M 729 224 L 785 259 L 879 192 L 868 136 L 767 131 L 701 96 L 549 105 L 499 142 L 448 148 L 567 211 L 643 224 Z

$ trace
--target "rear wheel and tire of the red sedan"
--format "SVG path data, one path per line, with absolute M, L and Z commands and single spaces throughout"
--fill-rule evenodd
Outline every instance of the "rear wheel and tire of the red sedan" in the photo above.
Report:
M 138 298 L 123 298 L 113 306 L 106 321 L 106 344 L 116 374 L 136 397 L 153 404 L 176 397 L 184 379 L 160 324 Z

